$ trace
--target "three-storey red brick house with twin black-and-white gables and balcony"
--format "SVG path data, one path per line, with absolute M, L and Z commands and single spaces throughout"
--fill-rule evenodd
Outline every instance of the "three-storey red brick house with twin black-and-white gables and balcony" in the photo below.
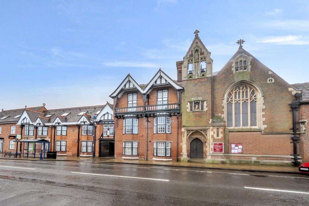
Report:
M 180 151 L 180 93 L 161 69 L 146 85 L 130 74 L 114 99 L 115 158 L 177 161 Z

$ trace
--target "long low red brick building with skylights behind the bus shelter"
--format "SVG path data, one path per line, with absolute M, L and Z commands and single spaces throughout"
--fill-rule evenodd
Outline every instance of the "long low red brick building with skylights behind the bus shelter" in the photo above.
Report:
M 49 150 L 58 156 L 114 157 L 113 107 L 109 103 L 53 110 L 43 104 L 2 111 L 0 128 L 2 151 L 15 151 L 15 135 L 19 134 L 22 139 L 50 141 Z M 22 151 L 23 145 L 19 147 Z

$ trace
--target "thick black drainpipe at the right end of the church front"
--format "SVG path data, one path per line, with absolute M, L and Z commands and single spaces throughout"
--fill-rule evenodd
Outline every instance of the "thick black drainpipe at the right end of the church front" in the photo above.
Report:
M 298 107 L 299 107 L 299 100 L 302 99 L 302 94 L 296 93 L 294 95 L 295 97 L 295 101 L 292 102 L 291 104 L 291 108 L 292 108 L 292 112 L 293 112 L 293 135 L 292 135 L 292 141 L 290 143 L 293 143 L 293 156 L 294 156 L 294 166 L 298 166 L 298 154 L 297 154 L 297 143 L 299 140 L 299 136 L 297 135 L 297 122 L 296 122 L 296 111 L 298 111 Z

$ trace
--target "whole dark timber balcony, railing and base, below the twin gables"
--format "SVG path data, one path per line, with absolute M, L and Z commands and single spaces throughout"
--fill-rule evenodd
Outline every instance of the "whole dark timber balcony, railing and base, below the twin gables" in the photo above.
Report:
M 171 115 L 177 115 L 180 112 L 180 104 L 157 104 L 146 105 L 138 107 L 119 107 L 115 108 L 114 115 L 117 118 L 121 118 L 125 115 L 137 115 L 137 116 L 154 116 L 156 113 L 170 113 Z

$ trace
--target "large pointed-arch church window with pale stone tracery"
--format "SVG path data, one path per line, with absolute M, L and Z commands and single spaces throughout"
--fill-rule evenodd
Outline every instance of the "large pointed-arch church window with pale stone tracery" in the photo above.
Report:
M 230 128 L 257 127 L 256 89 L 246 84 L 233 87 L 226 97 L 226 126 Z

